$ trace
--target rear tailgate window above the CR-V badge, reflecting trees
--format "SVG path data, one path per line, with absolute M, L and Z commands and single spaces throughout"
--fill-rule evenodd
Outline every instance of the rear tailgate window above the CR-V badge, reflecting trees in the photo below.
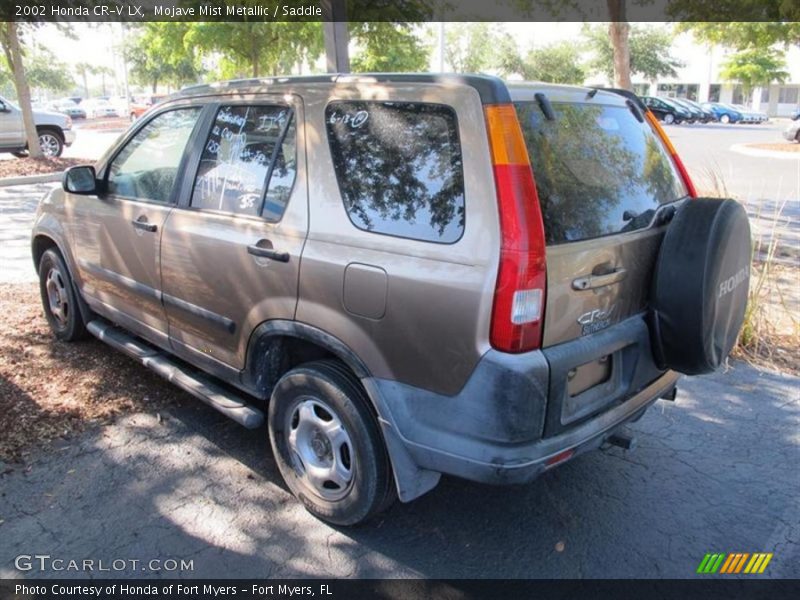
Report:
M 548 244 L 647 227 L 686 187 L 650 126 L 628 107 L 516 104 Z

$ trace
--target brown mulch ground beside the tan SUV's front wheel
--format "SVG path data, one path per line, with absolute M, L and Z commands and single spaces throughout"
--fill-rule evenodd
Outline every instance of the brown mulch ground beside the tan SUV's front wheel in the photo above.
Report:
M 57 342 L 34 283 L 0 286 L 0 474 L 36 447 L 185 395 L 91 338 Z

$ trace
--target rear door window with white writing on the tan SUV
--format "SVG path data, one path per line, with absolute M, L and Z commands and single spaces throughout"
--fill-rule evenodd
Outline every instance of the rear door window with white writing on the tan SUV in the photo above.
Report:
M 294 185 L 296 133 L 286 106 L 223 106 L 200 157 L 192 206 L 283 216 Z

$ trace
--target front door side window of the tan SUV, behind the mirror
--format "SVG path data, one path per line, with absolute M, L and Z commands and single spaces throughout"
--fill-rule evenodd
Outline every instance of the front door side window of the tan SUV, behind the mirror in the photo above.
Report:
M 200 107 L 180 108 L 149 121 L 123 147 L 108 171 L 108 193 L 168 203 Z

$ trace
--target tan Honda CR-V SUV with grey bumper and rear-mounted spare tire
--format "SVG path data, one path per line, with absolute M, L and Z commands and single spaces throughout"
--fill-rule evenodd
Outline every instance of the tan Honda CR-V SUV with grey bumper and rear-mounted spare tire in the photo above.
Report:
M 366 75 L 186 89 L 41 202 L 55 335 L 245 427 L 319 517 L 522 483 L 713 370 L 747 217 L 626 92 Z

